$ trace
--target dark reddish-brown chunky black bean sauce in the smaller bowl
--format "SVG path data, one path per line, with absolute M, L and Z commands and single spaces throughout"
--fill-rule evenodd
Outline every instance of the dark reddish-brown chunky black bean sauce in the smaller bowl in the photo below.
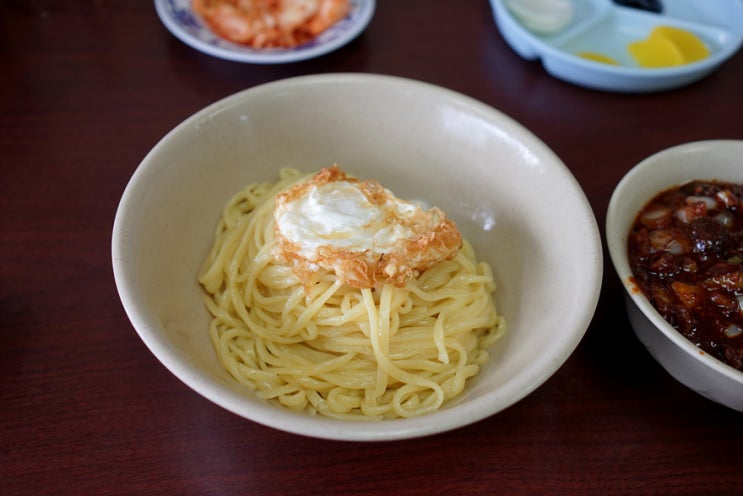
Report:
M 743 185 L 692 181 L 658 194 L 638 214 L 628 254 L 656 310 L 743 370 Z

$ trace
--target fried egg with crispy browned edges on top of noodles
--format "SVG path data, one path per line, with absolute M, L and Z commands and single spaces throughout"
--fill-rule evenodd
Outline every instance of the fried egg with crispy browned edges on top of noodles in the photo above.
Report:
M 453 258 L 462 245 L 439 208 L 396 198 L 376 180 L 334 165 L 276 196 L 275 256 L 305 285 L 321 270 L 357 288 L 398 287 Z

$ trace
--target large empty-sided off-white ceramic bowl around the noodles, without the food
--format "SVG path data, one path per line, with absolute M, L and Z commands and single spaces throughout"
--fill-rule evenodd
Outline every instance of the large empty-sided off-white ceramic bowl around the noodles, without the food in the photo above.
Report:
M 510 327 L 465 392 L 419 418 L 344 422 L 266 404 L 217 363 L 196 281 L 227 200 L 293 166 L 333 162 L 402 198 L 443 208 L 493 267 Z M 224 408 L 327 439 L 389 440 L 475 422 L 513 405 L 572 353 L 602 275 L 597 223 L 555 154 L 466 96 L 388 76 L 330 74 L 258 86 L 198 112 L 144 158 L 121 199 L 113 270 L 142 340 L 173 374 Z

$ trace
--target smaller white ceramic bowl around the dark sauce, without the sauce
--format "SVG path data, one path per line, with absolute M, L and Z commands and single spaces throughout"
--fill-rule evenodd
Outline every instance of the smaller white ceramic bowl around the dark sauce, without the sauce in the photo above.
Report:
M 657 193 L 694 179 L 743 183 L 743 141 L 687 143 L 637 164 L 617 185 L 606 216 L 606 238 L 614 268 L 626 290 L 635 334 L 653 357 L 679 382 L 697 393 L 743 411 L 743 372 L 697 348 L 653 308 L 632 282 L 627 237 L 640 209 Z

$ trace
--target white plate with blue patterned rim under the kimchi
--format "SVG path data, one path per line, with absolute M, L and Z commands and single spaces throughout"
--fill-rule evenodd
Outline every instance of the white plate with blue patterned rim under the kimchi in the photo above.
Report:
M 350 0 L 349 15 L 304 45 L 296 48 L 255 50 L 220 38 L 191 9 L 191 0 L 155 0 L 166 28 L 179 40 L 215 57 L 254 64 L 279 64 L 319 57 L 361 34 L 374 15 L 376 0 Z

